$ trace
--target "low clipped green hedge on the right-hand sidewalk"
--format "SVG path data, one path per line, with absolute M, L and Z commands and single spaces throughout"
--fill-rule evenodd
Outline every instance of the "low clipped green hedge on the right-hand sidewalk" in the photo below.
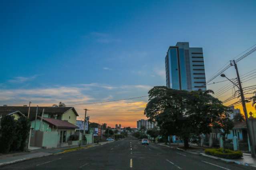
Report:
M 240 150 L 234 151 L 234 150 L 225 149 L 223 152 L 223 148 L 206 149 L 204 150 L 204 152 L 208 155 L 217 156 L 217 157 L 226 158 L 226 159 L 238 159 L 243 156 L 243 153 Z

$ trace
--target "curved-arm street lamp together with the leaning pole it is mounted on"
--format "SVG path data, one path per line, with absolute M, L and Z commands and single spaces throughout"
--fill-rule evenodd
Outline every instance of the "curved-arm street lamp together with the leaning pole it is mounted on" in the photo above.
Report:
M 236 63 L 234 62 L 235 68 L 236 68 L 236 73 L 237 73 L 237 80 L 238 80 L 238 85 L 236 83 L 234 83 L 233 81 L 231 81 L 228 77 L 226 77 L 225 74 L 221 74 L 221 77 L 226 77 L 226 79 L 228 79 L 231 83 L 233 83 L 234 85 L 236 85 L 236 87 L 238 87 L 239 91 L 240 91 L 240 96 L 241 96 L 241 102 L 242 102 L 242 106 L 243 106 L 243 110 L 244 110 L 244 116 L 245 116 L 245 120 L 246 120 L 246 127 L 247 127 L 247 132 L 248 132 L 248 136 L 249 136 L 249 142 L 250 142 L 250 146 L 251 146 L 251 154 L 252 157 L 255 157 L 255 144 L 252 140 L 252 136 L 251 136 L 251 132 L 250 132 L 250 128 L 249 128 L 249 123 L 248 123 L 248 114 L 247 114 L 247 109 L 246 109 L 246 105 L 245 105 L 245 99 L 244 99 L 244 92 L 242 89 L 242 84 L 240 81 L 240 76 L 238 74 L 238 69 L 236 66 Z

